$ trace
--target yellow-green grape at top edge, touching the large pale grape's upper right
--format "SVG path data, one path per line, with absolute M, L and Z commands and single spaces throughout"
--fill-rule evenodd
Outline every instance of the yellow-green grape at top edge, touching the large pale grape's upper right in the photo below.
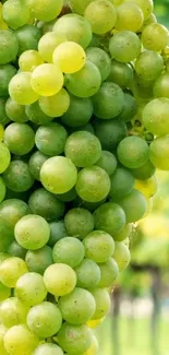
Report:
M 104 35 L 110 32 L 117 21 L 117 12 L 113 4 L 107 0 L 92 1 L 84 12 L 93 33 Z

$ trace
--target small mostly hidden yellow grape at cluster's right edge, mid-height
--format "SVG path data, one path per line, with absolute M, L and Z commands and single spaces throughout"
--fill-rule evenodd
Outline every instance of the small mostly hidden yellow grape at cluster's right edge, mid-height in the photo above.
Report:
M 153 198 L 154 194 L 157 192 L 158 188 L 158 179 L 156 175 L 152 176 L 147 180 L 136 180 L 135 181 L 135 189 L 141 191 L 147 199 Z

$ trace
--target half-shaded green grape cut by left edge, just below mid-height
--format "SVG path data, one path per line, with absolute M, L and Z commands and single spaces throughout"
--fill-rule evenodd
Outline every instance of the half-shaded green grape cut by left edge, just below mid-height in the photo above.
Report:
M 12 228 L 19 220 L 28 213 L 27 203 L 19 199 L 8 199 L 0 204 L 0 217 L 5 220 Z

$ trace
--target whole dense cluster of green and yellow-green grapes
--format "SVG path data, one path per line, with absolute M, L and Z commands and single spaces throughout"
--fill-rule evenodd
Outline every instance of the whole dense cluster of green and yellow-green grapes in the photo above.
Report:
M 1 355 L 97 353 L 169 169 L 168 46 L 152 0 L 1 1 Z

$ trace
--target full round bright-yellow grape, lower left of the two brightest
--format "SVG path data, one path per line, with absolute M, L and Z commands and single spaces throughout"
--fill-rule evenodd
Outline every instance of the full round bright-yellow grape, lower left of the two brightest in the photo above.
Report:
M 57 66 L 45 63 L 33 71 L 31 84 L 38 95 L 52 96 L 62 88 L 63 74 Z

